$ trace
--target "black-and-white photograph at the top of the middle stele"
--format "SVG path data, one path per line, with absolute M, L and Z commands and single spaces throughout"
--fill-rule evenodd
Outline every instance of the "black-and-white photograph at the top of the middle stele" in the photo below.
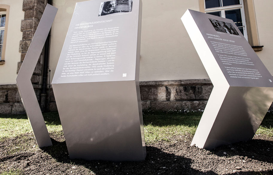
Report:
M 110 15 L 113 13 L 126 13 L 132 11 L 133 0 L 115 0 L 101 2 L 98 16 Z

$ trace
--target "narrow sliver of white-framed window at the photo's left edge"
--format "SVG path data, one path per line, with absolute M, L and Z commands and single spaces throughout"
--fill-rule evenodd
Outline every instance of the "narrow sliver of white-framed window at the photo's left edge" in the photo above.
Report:
M 9 6 L 0 4 L 0 65 L 4 64 Z

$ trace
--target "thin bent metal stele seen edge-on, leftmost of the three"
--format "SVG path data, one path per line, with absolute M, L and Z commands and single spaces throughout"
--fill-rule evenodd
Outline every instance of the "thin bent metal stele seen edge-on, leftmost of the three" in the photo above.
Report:
M 31 83 L 31 76 L 46 42 L 57 10 L 57 8 L 47 4 L 16 78 L 16 84 L 39 148 L 51 146 L 52 143 Z

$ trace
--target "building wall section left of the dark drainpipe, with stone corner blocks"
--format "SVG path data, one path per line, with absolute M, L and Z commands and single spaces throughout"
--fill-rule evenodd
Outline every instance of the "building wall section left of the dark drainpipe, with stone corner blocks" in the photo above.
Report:
M 10 6 L 7 26 L 5 64 L 0 65 L 0 114 L 25 113 L 16 86 L 16 76 L 45 9 L 45 0 L 0 0 Z M 6 29 L 5 29 L 6 30 Z M 6 32 L 6 31 L 5 31 Z M 37 100 L 41 99 L 43 55 L 40 56 L 31 82 Z

